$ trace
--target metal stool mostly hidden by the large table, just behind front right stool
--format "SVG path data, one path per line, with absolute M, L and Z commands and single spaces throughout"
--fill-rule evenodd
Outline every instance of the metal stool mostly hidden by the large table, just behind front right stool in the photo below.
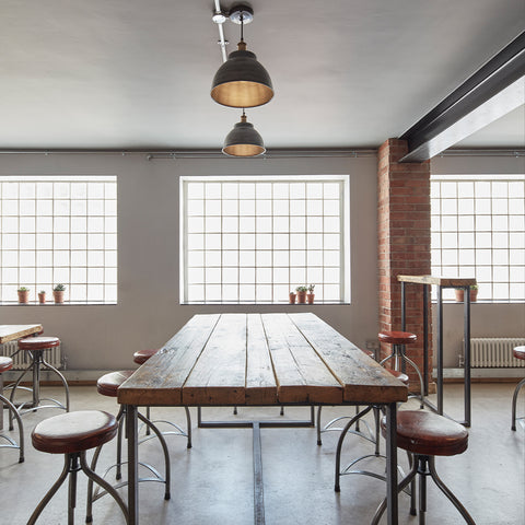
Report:
M 388 370 L 388 372 L 392 375 L 394 375 L 395 377 L 397 377 L 401 383 L 404 383 L 405 385 L 408 385 L 409 380 L 408 380 L 407 374 L 404 374 L 402 372 L 399 372 L 399 371 L 396 371 L 396 370 Z M 366 428 L 369 430 L 370 435 L 363 434 L 359 430 L 351 430 L 352 425 L 354 425 L 354 424 L 357 425 L 359 423 L 360 419 L 363 418 L 366 413 L 369 413 L 370 410 L 373 410 L 373 412 L 374 412 L 375 433 L 372 434 L 372 432 L 370 431 L 370 428 L 368 428 L 368 425 L 366 425 Z M 335 479 L 335 487 L 334 487 L 334 490 L 336 492 L 340 492 L 340 490 L 341 490 L 340 477 L 341 476 L 348 476 L 350 474 L 359 474 L 359 475 L 363 475 L 363 476 L 371 476 L 372 478 L 376 478 L 376 479 L 381 479 L 383 481 L 386 481 L 386 476 L 384 476 L 384 475 L 373 472 L 372 470 L 355 470 L 355 469 L 353 469 L 353 467 L 358 463 L 360 463 L 364 459 L 371 458 L 371 457 L 382 457 L 382 458 L 386 459 L 386 456 L 381 454 L 381 452 L 380 452 L 380 417 L 381 417 L 381 412 L 382 412 L 382 407 L 381 406 L 369 405 L 366 408 L 364 408 L 359 413 L 357 413 L 353 418 L 351 418 L 350 421 L 346 424 L 346 427 L 341 430 L 341 434 L 339 435 L 339 441 L 337 442 L 337 448 L 336 448 L 336 479 Z M 347 434 L 357 434 L 357 435 L 360 435 L 361 438 L 364 438 L 365 440 L 368 440 L 368 441 L 370 441 L 371 443 L 374 444 L 375 450 L 374 450 L 373 454 L 365 454 L 363 456 L 360 456 L 357 459 L 353 459 L 352 462 L 350 462 L 345 468 L 341 469 L 341 451 L 342 451 L 342 445 L 345 443 L 345 439 L 346 439 Z M 400 467 L 398 467 L 398 469 L 401 472 L 401 475 L 405 474 Z

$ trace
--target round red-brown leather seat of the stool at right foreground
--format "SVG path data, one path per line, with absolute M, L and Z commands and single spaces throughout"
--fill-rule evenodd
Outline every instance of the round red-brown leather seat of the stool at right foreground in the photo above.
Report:
M 386 434 L 386 418 L 381 421 Z M 397 446 L 425 456 L 454 456 L 468 446 L 468 432 L 451 419 L 425 410 L 397 412 Z

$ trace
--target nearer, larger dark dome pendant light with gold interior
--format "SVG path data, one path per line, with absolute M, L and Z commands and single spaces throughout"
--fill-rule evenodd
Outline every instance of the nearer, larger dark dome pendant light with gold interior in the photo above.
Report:
M 219 68 L 211 85 L 211 97 L 230 107 L 256 107 L 269 102 L 273 96 L 268 71 L 257 61 L 254 52 L 246 50 L 244 24 L 252 22 L 254 12 L 247 5 L 237 5 L 230 20 L 241 24 L 241 42 L 237 50 Z

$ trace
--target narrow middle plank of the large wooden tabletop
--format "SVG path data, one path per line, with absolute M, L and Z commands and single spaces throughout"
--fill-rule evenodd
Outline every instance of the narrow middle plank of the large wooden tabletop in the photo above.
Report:
M 277 405 L 277 383 L 259 314 L 247 317 L 246 405 Z

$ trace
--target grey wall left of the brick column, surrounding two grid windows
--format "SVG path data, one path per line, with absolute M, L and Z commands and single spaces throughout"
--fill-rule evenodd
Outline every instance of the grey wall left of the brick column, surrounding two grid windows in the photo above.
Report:
M 167 160 L 144 154 L 13 154 L 1 175 L 117 175 L 118 305 L 0 306 L 0 324 L 42 323 L 61 338 L 70 370 L 131 366 L 194 314 L 311 311 L 357 345 L 377 334 L 376 159 Z M 180 175 L 349 174 L 352 302 L 313 306 L 182 306 L 178 298 Z

